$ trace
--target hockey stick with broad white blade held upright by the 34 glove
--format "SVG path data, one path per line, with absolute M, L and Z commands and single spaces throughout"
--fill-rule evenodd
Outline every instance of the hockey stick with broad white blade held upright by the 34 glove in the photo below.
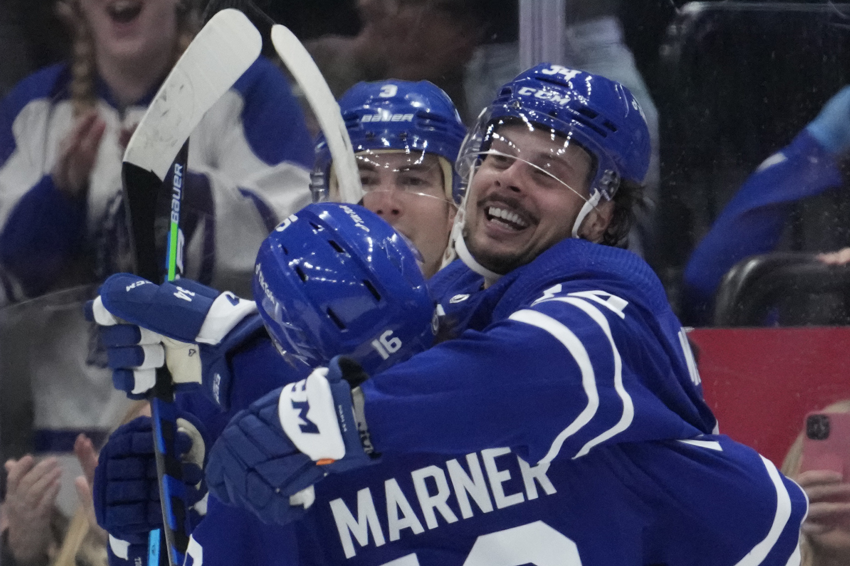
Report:
M 162 83 L 133 137 L 127 144 L 122 165 L 124 202 L 130 221 L 130 235 L 136 260 L 136 273 L 159 280 L 162 264 L 156 257 L 156 196 L 172 172 L 169 229 L 166 248 L 167 280 L 178 278 L 183 270 L 183 233 L 180 229 L 180 203 L 188 158 L 190 133 L 212 105 L 257 59 L 262 39 L 244 14 L 224 10 L 198 32 L 189 48 Z M 176 159 L 175 159 L 176 156 Z M 174 389 L 166 367 L 156 371 L 156 385 L 150 394 L 154 421 L 156 476 L 162 506 L 167 562 L 184 562 L 189 545 L 185 531 L 186 508 L 182 464 L 174 450 L 177 416 Z M 151 561 L 156 560 L 158 536 L 151 535 Z M 162 553 L 159 553 L 162 563 Z

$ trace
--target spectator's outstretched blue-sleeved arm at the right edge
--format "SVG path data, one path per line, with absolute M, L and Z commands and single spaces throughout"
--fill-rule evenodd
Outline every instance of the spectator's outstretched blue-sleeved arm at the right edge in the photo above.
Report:
M 842 186 L 838 158 L 850 150 L 850 87 L 842 88 L 796 138 L 752 173 L 694 250 L 684 272 L 683 320 L 710 322 L 714 293 L 741 259 L 774 250 L 793 205 Z M 841 255 L 822 258 L 836 263 Z

